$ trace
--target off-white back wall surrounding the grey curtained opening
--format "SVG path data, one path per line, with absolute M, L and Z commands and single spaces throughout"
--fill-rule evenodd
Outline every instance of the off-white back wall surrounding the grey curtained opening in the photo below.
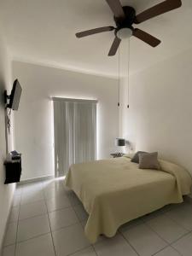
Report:
M 14 61 L 14 78 L 23 88 L 15 112 L 15 148 L 22 153 L 22 179 L 54 174 L 51 96 L 97 99 L 98 159 L 108 158 L 118 136 L 118 82 Z

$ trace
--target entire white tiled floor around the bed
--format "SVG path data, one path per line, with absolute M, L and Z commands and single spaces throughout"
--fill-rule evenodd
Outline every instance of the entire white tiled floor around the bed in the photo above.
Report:
M 192 256 L 192 204 L 167 206 L 91 245 L 88 215 L 62 180 L 16 189 L 3 256 Z

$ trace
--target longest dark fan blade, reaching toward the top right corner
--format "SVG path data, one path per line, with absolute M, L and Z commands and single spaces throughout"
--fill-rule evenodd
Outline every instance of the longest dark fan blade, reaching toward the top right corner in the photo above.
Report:
M 143 11 L 141 14 L 137 15 L 134 23 L 142 23 L 145 20 L 149 20 L 151 18 L 154 18 L 155 16 L 165 14 L 166 12 L 169 12 L 172 9 L 177 9 L 181 6 L 181 0 L 166 0 L 162 3 L 154 5 L 154 7 L 151 7 Z

